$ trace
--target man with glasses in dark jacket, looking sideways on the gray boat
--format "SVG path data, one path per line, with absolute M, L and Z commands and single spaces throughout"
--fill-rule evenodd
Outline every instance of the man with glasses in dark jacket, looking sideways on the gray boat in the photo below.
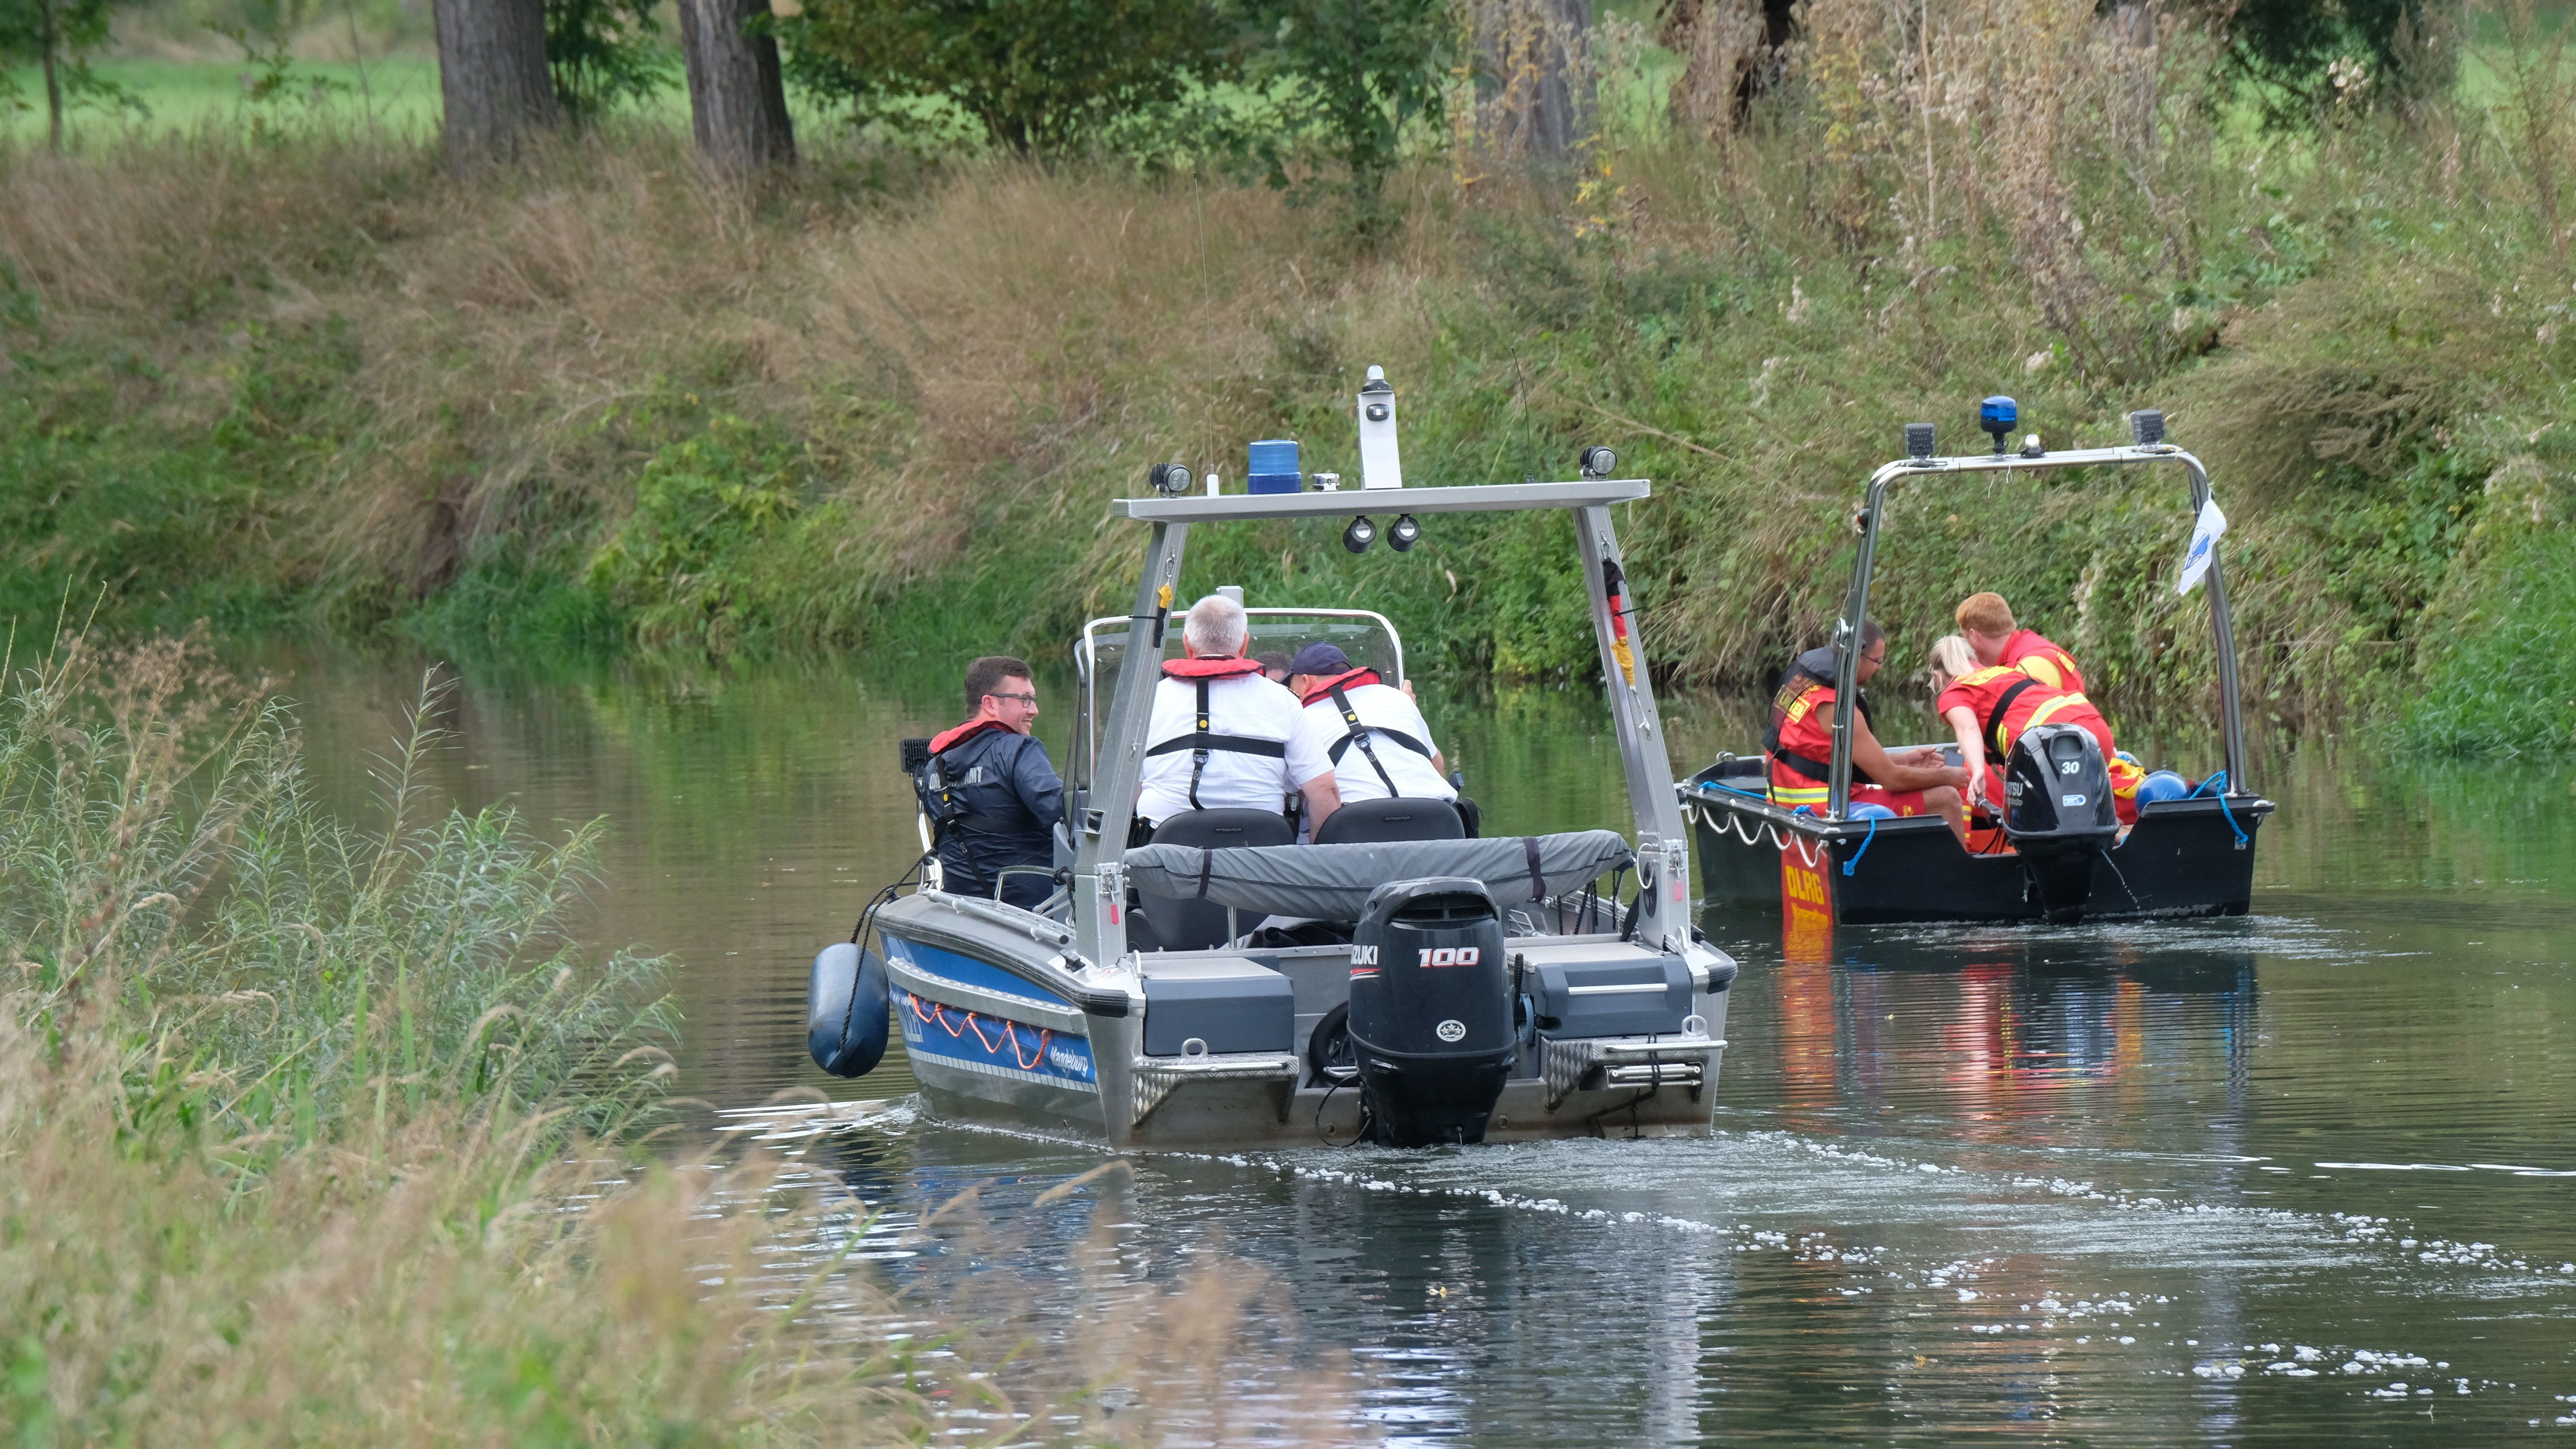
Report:
M 1028 665 L 987 655 L 966 665 L 966 709 L 974 714 L 930 740 L 930 755 L 956 807 L 940 830 L 940 874 L 951 892 L 992 897 L 1005 866 L 1054 866 L 1054 828 L 1064 820 L 1064 781 L 1028 727 L 1038 719 L 1038 686 Z M 930 802 L 925 802 L 930 804 Z M 938 820 L 938 812 L 933 812 Z M 1002 879 L 1002 900 L 1036 908 L 1046 877 Z

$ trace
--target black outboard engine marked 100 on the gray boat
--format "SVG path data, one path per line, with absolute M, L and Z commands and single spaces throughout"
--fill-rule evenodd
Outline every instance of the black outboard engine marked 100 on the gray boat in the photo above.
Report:
M 1484 882 L 1427 877 L 1370 892 L 1350 938 L 1350 1052 L 1370 1137 L 1484 1142 L 1517 1049 L 1502 915 Z

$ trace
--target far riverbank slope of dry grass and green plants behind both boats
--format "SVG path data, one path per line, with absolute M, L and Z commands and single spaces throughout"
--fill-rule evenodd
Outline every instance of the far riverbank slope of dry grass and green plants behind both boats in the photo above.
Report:
M 817 144 L 732 193 L 652 126 L 474 180 L 350 137 L 15 155 L 0 611 L 1048 652 L 1121 598 L 1136 541 L 1103 503 L 1146 462 L 1239 474 L 1244 438 L 1301 436 L 1352 472 L 1376 361 L 1417 482 L 1553 477 L 1592 441 L 1651 474 L 1649 645 L 1749 681 L 1816 639 L 1899 425 L 1971 449 L 1973 400 L 2014 392 L 2048 443 L 2161 405 L 2213 464 L 2267 712 L 2563 745 L 2566 694 L 2476 652 L 2576 601 L 2563 155 L 2501 124 L 2548 98 L 2254 134 L 2190 31 L 2061 41 L 1963 57 L 2009 85 L 1909 121 L 1880 39 L 1826 36 L 1850 70 L 1747 131 L 1613 137 L 1569 175 L 1422 165 L 1368 253 L 1275 193 L 1115 168 Z M 1878 593 L 1899 665 L 1999 588 L 2115 706 L 2192 704 L 2184 526 L 2166 480 L 1914 490 Z M 1324 526 L 1211 536 L 1188 588 L 1365 596 L 1443 668 L 1582 673 L 1551 529 L 1363 559 Z M 2458 678 L 2514 704 L 2463 712 Z

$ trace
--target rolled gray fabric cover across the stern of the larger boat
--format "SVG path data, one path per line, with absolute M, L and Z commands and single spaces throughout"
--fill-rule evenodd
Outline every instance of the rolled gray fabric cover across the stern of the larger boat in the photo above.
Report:
M 1391 879 L 1471 877 L 1494 905 L 1569 892 L 1631 864 L 1618 830 L 1499 835 L 1492 841 L 1388 841 L 1352 846 L 1136 846 L 1128 884 L 1144 895 L 1213 900 L 1303 920 L 1358 920 L 1368 892 Z

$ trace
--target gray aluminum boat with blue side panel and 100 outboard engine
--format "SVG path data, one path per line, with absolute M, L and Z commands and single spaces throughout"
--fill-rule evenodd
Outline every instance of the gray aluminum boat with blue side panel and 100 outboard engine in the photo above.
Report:
M 1054 900 L 956 895 L 933 864 L 930 884 L 863 923 L 881 954 L 842 944 L 817 959 L 817 1062 L 873 1065 L 891 1016 L 933 1111 L 1110 1147 L 1708 1134 L 1736 967 L 1692 931 L 1690 835 L 1628 637 L 1610 508 L 1646 495 L 1643 480 L 1587 474 L 1113 503 L 1146 529 L 1144 575 L 1131 614 L 1074 645 Z M 1180 650 L 1190 526 L 1360 511 L 1574 516 L 1631 833 L 1484 820 L 1481 838 L 1461 838 L 1440 802 L 1378 802 L 1345 807 L 1360 820 L 1347 841 L 1340 815 L 1321 843 L 1291 843 L 1278 815 L 1208 810 L 1131 846 L 1159 678 L 1131 660 Z M 1252 621 L 1255 647 L 1327 637 L 1388 683 L 1404 676 L 1401 639 L 1376 614 L 1255 608 Z M 1265 918 L 1329 941 L 1255 944 Z

